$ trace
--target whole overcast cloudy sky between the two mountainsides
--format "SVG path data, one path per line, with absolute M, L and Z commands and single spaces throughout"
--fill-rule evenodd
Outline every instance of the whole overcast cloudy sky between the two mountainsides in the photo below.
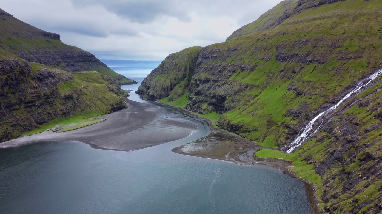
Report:
M 7 0 L 0 8 L 100 59 L 163 60 L 224 42 L 280 0 Z

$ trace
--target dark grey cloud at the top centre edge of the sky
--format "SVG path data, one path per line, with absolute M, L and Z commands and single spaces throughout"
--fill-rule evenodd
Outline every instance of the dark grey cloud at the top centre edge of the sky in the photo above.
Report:
M 161 16 L 172 16 L 183 22 L 191 21 L 185 10 L 172 0 L 71 0 L 75 6 L 101 5 L 111 13 L 131 22 L 147 24 Z

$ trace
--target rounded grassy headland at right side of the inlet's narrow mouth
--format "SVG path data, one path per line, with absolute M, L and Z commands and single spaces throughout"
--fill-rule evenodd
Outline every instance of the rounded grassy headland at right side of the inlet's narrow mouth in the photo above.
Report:
M 170 54 L 142 81 L 137 93 L 150 100 L 168 97 L 174 101 L 183 96 L 196 68 L 202 47 L 186 48 Z

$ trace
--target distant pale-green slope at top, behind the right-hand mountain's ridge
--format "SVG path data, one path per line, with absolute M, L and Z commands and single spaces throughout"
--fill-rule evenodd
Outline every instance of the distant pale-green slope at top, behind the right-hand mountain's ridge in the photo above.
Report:
M 227 40 L 235 37 L 240 37 L 262 30 L 272 29 L 287 17 L 297 4 L 297 0 L 286 0 L 278 3 L 274 8 L 262 14 L 256 21 L 240 27 L 230 35 Z

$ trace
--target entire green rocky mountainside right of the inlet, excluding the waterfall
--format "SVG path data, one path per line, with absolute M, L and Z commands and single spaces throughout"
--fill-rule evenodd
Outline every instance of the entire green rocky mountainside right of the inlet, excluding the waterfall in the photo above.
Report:
M 194 69 L 183 62 L 196 54 L 168 57 L 138 93 L 218 119 L 220 128 L 264 147 L 283 148 L 382 67 L 381 19 L 380 0 L 283 1 L 226 42 L 202 48 Z M 189 69 L 183 80 L 174 77 L 182 67 Z M 316 186 L 326 212 L 382 212 L 380 77 L 369 86 L 327 115 L 294 153 L 257 153 L 294 161 L 293 171 Z

